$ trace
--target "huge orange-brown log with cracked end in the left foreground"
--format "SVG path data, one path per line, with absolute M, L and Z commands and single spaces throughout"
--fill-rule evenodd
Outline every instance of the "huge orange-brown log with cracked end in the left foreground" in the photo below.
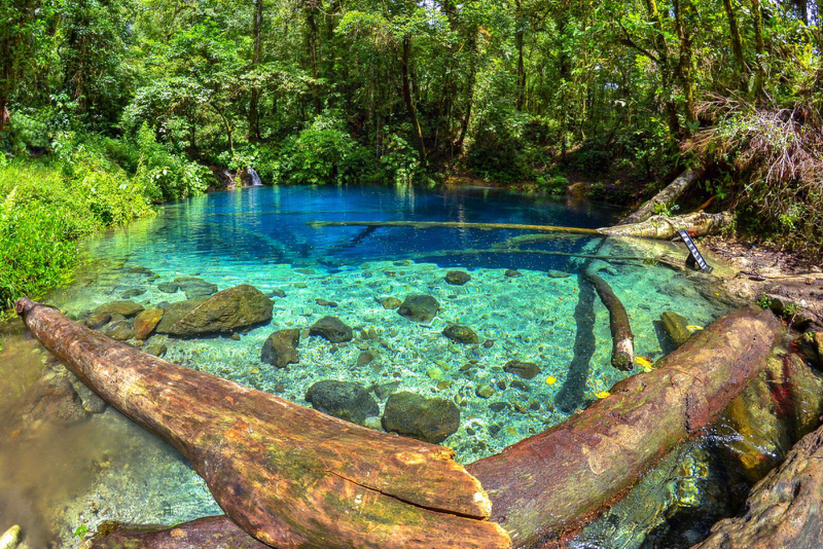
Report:
M 477 479 L 387 435 L 108 339 L 53 307 L 17 313 L 128 418 L 179 449 L 226 514 L 273 547 L 509 547 Z

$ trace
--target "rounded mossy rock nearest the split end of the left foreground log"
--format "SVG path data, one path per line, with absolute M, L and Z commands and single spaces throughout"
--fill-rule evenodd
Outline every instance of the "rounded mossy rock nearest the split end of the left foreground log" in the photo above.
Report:
M 448 399 L 426 399 L 402 391 L 391 394 L 383 413 L 383 428 L 426 442 L 442 442 L 460 427 L 460 410 Z

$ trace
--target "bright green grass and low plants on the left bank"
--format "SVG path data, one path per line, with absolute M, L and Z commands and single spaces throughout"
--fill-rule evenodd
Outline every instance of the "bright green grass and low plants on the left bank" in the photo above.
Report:
M 206 168 L 159 146 L 65 136 L 41 159 L 0 154 L 0 311 L 70 281 L 81 238 L 207 187 Z

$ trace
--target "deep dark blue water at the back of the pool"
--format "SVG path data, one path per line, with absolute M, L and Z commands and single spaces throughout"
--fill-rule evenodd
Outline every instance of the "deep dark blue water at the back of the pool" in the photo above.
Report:
M 426 251 L 485 249 L 522 231 L 453 228 L 310 228 L 309 221 L 465 221 L 595 228 L 618 210 L 566 205 L 550 197 L 491 189 L 398 191 L 394 187 L 249 187 L 179 201 L 149 225 L 155 252 L 242 263 L 343 263 L 412 256 Z M 550 247 L 575 251 L 589 238 L 559 235 Z M 439 265 L 532 270 L 560 268 L 567 258 L 494 254 L 437 256 Z

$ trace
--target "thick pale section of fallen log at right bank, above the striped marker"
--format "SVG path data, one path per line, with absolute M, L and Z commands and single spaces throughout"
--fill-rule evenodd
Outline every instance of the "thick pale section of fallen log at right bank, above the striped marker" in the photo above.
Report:
M 653 238 L 656 240 L 671 240 L 677 236 L 677 231 L 685 228 L 691 237 L 705 237 L 718 233 L 722 228 L 731 224 L 734 215 L 725 211 L 719 214 L 694 214 L 667 217 L 653 215 L 645 221 L 632 224 L 615 225 L 614 227 L 598 228 L 602 234 L 613 237 Z

